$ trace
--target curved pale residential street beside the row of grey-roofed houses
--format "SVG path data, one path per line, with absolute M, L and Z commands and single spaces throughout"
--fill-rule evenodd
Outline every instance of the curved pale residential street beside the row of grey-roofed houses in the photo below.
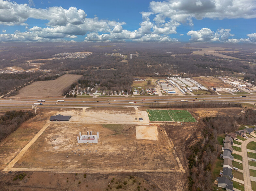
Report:
M 242 157 L 243 157 L 243 171 L 244 171 L 244 185 L 245 191 L 252 191 L 251 189 L 251 179 L 250 179 L 250 170 L 249 170 L 249 163 L 247 157 L 247 144 L 251 141 L 256 141 L 256 138 L 247 139 L 242 143 Z

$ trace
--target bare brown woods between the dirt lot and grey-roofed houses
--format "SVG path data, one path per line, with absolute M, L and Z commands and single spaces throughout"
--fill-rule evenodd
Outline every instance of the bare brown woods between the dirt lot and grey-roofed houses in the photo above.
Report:
M 218 115 L 207 117 L 203 120 L 204 129 L 201 132 L 203 139 L 191 146 L 191 155 L 188 157 L 189 190 L 212 190 L 213 179 L 212 166 L 218 156 L 217 136 L 225 132 L 238 130 L 237 124 L 254 125 L 256 123 L 256 111 L 245 109 L 239 115 Z

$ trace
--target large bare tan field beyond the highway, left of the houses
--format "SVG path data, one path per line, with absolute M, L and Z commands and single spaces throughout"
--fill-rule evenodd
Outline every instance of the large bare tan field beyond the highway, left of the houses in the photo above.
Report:
M 23 87 L 19 95 L 13 97 L 60 96 L 62 90 L 78 80 L 82 75 L 66 74 L 56 80 L 38 81 Z

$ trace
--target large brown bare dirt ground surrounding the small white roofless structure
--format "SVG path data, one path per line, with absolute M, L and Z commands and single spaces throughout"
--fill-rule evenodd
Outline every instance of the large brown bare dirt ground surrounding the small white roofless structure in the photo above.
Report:
M 29 141 L 31 143 L 32 137 L 35 139 L 38 135 L 20 155 L 13 168 L 8 170 L 15 172 L 0 173 L 0 189 L 84 190 L 88 185 L 90 190 L 105 190 L 107 185 L 110 185 L 115 190 L 117 184 L 111 183 L 114 177 L 115 181 L 120 181 L 118 184 L 123 181 L 128 183 L 126 186 L 122 184 L 126 190 L 136 190 L 139 182 L 141 189 L 184 190 L 187 175 L 184 173 L 183 165 L 179 163 L 180 160 L 177 158 L 179 156 L 173 151 L 172 141 L 169 140 L 162 126 L 154 126 L 157 140 L 137 139 L 138 125 L 133 124 L 63 121 L 49 123 L 50 125 L 40 132 L 51 115 L 72 114 L 72 118 L 75 118 L 88 111 L 85 109 L 39 110 L 37 116 L 24 122 L 22 127 L 2 141 L 0 149 L 3 145 L 10 149 L 7 152 L 0 152 L 1 159 L 4 159 L 0 161 L 1 169 L 12 165 L 10 161 L 25 145 L 29 145 L 27 144 Z M 113 115 L 112 112 L 113 110 L 108 111 L 109 117 Z M 115 112 L 120 113 L 120 111 Z M 138 109 L 121 112 L 136 113 Z M 30 129 L 33 126 L 34 129 Z M 22 129 L 29 132 L 24 134 Z M 100 133 L 98 144 L 77 144 L 79 132 L 85 134 L 87 130 L 92 130 L 94 134 L 97 131 Z M 15 139 L 16 137 L 18 140 Z M 23 140 L 25 138 L 27 139 Z M 23 144 L 20 140 L 24 141 Z M 6 147 L 2 150 L 5 149 Z M 19 179 L 12 181 L 19 171 L 26 172 L 27 176 L 22 181 Z M 78 175 L 76 176 L 75 173 Z M 87 174 L 86 178 L 83 177 L 83 173 Z M 135 177 L 129 180 L 130 175 Z M 79 181 L 81 184 L 78 184 Z

